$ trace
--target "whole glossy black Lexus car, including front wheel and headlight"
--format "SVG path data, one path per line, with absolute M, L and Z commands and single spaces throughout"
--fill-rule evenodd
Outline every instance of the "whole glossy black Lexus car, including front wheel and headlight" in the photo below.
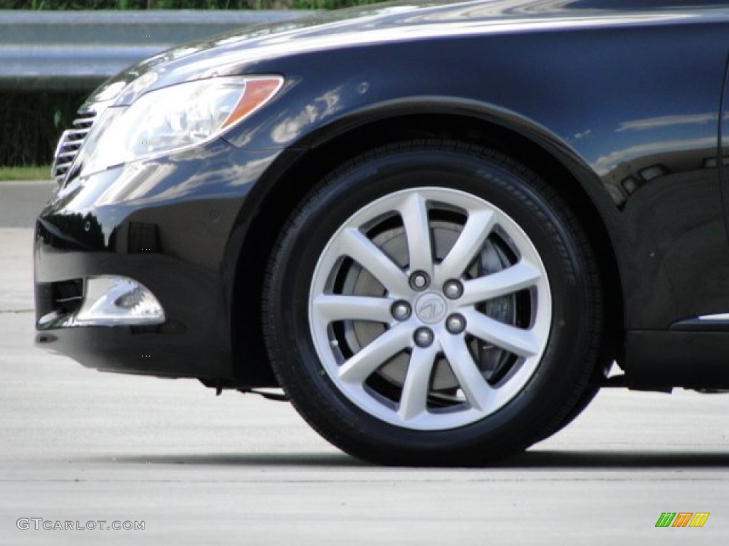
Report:
M 728 45 L 695 2 L 410 2 L 145 60 L 58 145 L 36 342 L 282 387 L 386 464 L 727 389 Z

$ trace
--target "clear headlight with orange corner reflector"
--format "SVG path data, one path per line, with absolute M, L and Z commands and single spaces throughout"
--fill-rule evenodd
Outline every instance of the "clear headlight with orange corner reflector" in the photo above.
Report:
M 208 141 L 261 108 L 283 82 L 281 76 L 203 79 L 108 108 L 100 131 L 86 143 L 90 157 L 82 174 Z

